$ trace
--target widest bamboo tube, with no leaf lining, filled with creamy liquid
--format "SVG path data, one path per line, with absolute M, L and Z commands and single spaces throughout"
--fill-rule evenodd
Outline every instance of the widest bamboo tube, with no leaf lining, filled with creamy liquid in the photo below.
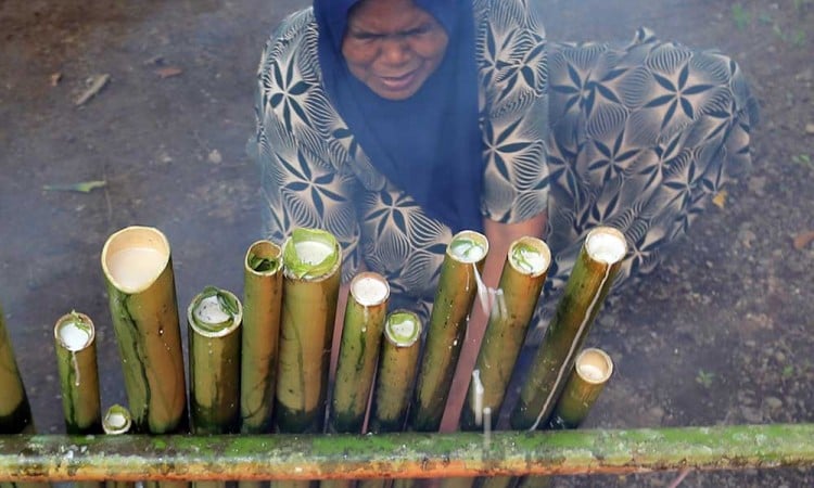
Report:
M 133 431 L 186 429 L 187 391 L 169 242 L 157 229 L 123 229 L 105 242 L 102 270 Z

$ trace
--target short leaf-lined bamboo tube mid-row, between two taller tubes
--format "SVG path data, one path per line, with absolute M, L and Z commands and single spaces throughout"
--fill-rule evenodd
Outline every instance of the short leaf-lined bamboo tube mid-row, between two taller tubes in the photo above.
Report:
M 411 311 L 395 310 L 387 316 L 370 409 L 370 432 L 404 428 L 416 381 L 421 329 L 421 320 Z

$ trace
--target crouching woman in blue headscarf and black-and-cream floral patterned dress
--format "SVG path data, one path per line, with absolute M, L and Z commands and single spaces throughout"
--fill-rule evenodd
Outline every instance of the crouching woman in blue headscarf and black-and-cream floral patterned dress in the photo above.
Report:
M 645 30 L 552 44 L 522 0 L 315 0 L 259 67 L 266 234 L 327 229 L 345 281 L 378 271 L 424 313 L 455 232 L 487 236 L 491 286 L 539 235 L 550 305 L 597 224 L 628 241 L 618 283 L 650 271 L 748 167 L 752 108 L 734 62 Z

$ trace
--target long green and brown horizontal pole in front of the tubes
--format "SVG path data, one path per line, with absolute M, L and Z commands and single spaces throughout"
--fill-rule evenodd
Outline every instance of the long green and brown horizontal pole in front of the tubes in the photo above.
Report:
M 814 465 L 814 424 L 264 436 L 0 436 L 0 480 L 644 473 Z

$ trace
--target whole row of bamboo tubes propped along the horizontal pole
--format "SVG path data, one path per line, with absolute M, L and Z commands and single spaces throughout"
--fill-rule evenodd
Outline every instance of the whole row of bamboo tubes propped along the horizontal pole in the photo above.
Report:
M 582 343 L 625 251 L 624 237 L 613 229 L 598 228 L 586 237 L 525 375 L 510 415 L 512 428 L 575 427 L 587 414 L 612 363 L 599 350 L 581 352 Z M 123 229 L 105 243 L 102 268 L 129 411 L 112 408 L 105 420 L 116 422 L 113 427 L 105 423 L 105 432 L 361 433 L 366 419 L 368 431 L 374 433 L 437 431 L 469 313 L 479 290 L 483 292 L 479 281 L 487 253 L 486 239 L 476 232 L 465 231 L 453 239 L 425 332 L 412 312 L 387 313 L 390 291 L 381 275 L 366 272 L 355 277 L 329 391 L 340 291 L 339 244 L 330 233 L 309 229 L 295 230 L 282 247 L 268 241 L 254 243 L 244 260 L 243 300 L 228 291 L 208 287 L 187 310 L 188 412 L 169 243 L 157 229 Z M 512 244 L 478 356 L 461 429 L 495 428 L 549 262 L 550 253 L 543 241 L 523 237 Z M 0 361 L 5 365 L 0 381 L 3 390 L 12 395 L 0 400 L 0 433 L 20 433 L 33 425 L 30 409 L 1 320 L 0 311 Z M 90 318 L 77 312 L 64 316 L 54 328 L 68 434 L 102 432 L 93 336 Z M 589 369 L 601 367 L 606 374 L 599 381 L 581 374 L 580 368 L 574 369 L 577 354 L 586 358 Z M 131 429 L 123 429 L 124 424 Z M 302 484 L 279 483 L 275 486 Z M 352 486 L 349 483 L 322 485 Z M 397 480 L 394 486 L 412 486 L 410 483 Z M 483 478 L 474 485 L 472 480 L 445 483 L 524 486 L 512 478 Z M 360 486 L 373 488 L 384 481 L 369 480 Z

